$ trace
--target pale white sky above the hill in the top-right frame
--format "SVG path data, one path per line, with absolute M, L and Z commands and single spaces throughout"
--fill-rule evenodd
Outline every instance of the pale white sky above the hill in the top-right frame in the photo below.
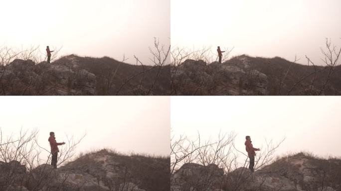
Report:
M 235 47 L 232 55 L 321 64 L 325 38 L 341 46 L 340 0 L 172 0 L 172 46 Z

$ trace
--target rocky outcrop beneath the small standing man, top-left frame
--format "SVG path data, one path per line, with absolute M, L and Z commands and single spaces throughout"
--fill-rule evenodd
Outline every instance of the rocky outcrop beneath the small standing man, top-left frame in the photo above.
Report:
M 64 63 L 14 60 L 0 70 L 4 95 L 95 95 L 96 76 Z

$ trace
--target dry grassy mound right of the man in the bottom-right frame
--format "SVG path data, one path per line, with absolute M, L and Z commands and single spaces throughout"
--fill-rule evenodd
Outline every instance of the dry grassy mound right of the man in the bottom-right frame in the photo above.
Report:
M 287 153 L 264 167 L 259 173 L 278 174 L 301 185 L 304 190 L 341 186 L 341 157 L 318 156 L 311 152 Z M 312 177 L 314 181 L 307 182 Z

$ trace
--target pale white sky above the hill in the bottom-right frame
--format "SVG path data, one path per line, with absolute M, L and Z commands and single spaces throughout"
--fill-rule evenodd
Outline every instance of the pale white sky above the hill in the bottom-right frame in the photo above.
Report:
M 286 140 L 277 155 L 308 151 L 341 156 L 339 96 L 172 96 L 172 134 L 216 139 L 219 131 L 237 134 L 236 147 L 245 151 L 245 136 L 253 146 L 264 138 Z

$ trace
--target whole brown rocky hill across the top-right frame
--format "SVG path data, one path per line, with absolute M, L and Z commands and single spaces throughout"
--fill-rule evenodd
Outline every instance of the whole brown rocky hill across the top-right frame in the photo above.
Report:
M 315 72 L 316 71 L 316 72 Z M 341 95 L 341 66 L 241 55 L 222 64 L 185 60 L 171 70 L 172 95 Z

